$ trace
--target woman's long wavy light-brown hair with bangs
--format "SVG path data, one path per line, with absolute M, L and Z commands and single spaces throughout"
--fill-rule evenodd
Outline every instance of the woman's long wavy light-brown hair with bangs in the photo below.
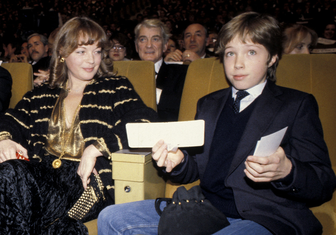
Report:
M 49 87 L 61 87 L 68 80 L 68 68 L 61 58 L 68 57 L 78 46 L 95 42 L 101 47 L 101 63 L 94 78 L 114 76 L 113 61 L 108 57 L 111 43 L 104 30 L 89 18 L 74 17 L 56 35 L 50 62 Z

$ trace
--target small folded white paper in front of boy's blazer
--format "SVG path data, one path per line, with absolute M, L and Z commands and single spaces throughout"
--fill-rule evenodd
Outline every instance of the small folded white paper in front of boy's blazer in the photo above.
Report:
M 267 157 L 274 154 L 279 148 L 282 138 L 284 138 L 287 127 L 273 134 L 261 137 L 257 142 L 253 156 Z

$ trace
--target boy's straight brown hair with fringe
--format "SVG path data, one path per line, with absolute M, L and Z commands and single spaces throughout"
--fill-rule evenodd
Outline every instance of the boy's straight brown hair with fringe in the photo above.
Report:
M 226 23 L 218 34 L 219 44 L 217 53 L 221 62 L 224 59 L 224 50 L 227 43 L 238 36 L 243 43 L 251 40 L 263 45 L 268 51 L 268 63 L 272 56 L 277 55 L 276 62 L 268 68 L 267 79 L 276 81 L 276 69 L 281 58 L 282 42 L 281 29 L 278 21 L 267 14 L 246 12 Z

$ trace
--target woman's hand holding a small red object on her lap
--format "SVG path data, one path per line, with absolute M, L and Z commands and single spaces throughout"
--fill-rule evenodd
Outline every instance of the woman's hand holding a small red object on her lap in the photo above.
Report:
M 16 159 L 16 151 L 20 150 L 25 158 L 28 158 L 27 149 L 12 140 L 0 141 L 0 163 L 9 159 Z

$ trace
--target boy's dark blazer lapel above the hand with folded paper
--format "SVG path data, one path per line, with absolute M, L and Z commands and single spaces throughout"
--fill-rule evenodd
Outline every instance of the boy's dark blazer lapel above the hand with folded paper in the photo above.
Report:
M 282 91 L 273 82 L 267 81 L 238 144 L 229 174 L 249 156 L 276 117 L 280 107 L 283 105 L 283 101 L 276 97 L 281 93 Z

